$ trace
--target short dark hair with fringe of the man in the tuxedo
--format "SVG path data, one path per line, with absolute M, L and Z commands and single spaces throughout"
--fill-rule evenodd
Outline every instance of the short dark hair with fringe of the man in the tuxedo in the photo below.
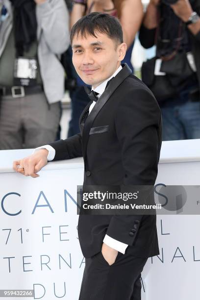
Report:
M 86 33 L 97 37 L 95 32 L 107 34 L 110 39 L 116 41 L 116 44 L 123 43 L 123 31 L 119 20 L 109 14 L 93 12 L 80 18 L 73 25 L 70 34 L 71 45 L 75 34 L 80 33 L 81 38 L 86 37 Z

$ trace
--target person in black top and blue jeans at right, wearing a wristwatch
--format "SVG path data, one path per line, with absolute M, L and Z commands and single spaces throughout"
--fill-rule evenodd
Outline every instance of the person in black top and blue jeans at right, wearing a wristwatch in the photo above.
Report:
M 156 45 L 142 66 L 163 117 L 163 140 L 200 138 L 200 0 L 150 0 L 139 39 Z

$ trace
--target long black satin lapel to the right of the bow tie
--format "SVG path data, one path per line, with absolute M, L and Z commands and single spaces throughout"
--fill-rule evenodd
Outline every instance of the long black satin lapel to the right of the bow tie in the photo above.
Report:
M 93 107 L 91 113 L 87 117 L 83 132 L 82 132 L 82 148 L 83 148 L 83 157 L 86 156 L 86 149 L 87 149 L 87 142 L 89 137 L 89 132 L 92 127 L 92 124 L 97 117 L 98 113 L 100 112 L 103 105 L 106 103 L 106 101 L 110 98 L 110 96 L 114 93 L 114 91 L 117 89 L 117 87 L 125 80 L 126 77 L 128 77 L 130 74 L 132 74 L 131 69 L 128 67 L 128 65 L 125 63 L 123 64 L 123 69 L 111 80 L 109 84 L 109 88 L 105 89 L 105 91 L 100 96 L 99 100 Z M 122 65 L 122 66 L 123 66 Z

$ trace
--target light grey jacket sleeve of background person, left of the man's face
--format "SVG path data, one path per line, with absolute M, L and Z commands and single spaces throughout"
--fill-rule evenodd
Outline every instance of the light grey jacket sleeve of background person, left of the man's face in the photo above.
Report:
M 37 23 L 54 54 L 65 52 L 70 45 L 69 12 L 64 0 L 46 0 L 36 6 Z

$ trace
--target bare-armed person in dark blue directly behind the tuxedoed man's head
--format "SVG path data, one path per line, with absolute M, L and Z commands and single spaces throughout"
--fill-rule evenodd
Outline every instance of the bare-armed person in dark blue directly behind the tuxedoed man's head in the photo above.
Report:
M 73 1 L 73 9 L 70 15 L 70 23 L 73 26 L 78 19 L 90 12 L 106 12 L 119 18 L 123 29 L 123 38 L 127 50 L 122 63 L 127 63 L 133 73 L 131 54 L 134 46 L 135 35 L 143 20 L 144 12 L 141 0 L 78 0 Z M 76 88 L 70 93 L 71 120 L 69 122 L 68 137 L 80 132 L 79 118 L 89 102 L 85 92 L 85 83 L 75 74 Z

